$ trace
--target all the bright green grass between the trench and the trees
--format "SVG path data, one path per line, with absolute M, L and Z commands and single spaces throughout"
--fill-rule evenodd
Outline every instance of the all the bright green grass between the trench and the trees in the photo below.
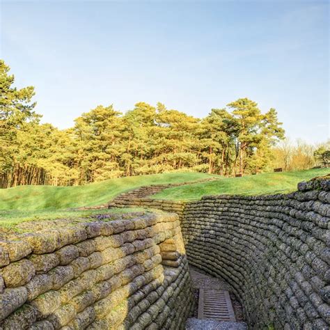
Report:
M 150 184 L 189 182 L 212 177 L 218 179 L 164 189 L 155 195 L 159 199 L 194 201 L 205 195 L 288 193 L 297 189 L 298 182 L 327 174 L 329 168 L 265 173 L 243 178 L 222 178 L 205 173 L 164 173 L 118 178 L 77 187 L 21 186 L 1 189 L 0 227 L 15 230 L 17 224 L 26 221 L 87 219 L 96 214 L 142 211 L 141 208 L 81 211 L 70 208 L 107 203 L 118 194 Z

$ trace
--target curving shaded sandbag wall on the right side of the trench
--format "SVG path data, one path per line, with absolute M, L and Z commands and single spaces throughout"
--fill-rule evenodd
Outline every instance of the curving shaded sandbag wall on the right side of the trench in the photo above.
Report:
M 186 204 L 190 265 L 233 285 L 251 329 L 329 329 L 330 181 Z

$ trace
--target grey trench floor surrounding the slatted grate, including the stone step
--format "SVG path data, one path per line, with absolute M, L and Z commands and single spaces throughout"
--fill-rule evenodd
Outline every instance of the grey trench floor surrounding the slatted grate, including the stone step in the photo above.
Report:
M 221 278 L 215 278 L 207 274 L 203 274 L 200 269 L 189 265 L 189 272 L 193 283 L 194 294 L 196 298 L 194 317 L 190 317 L 186 323 L 186 330 L 245 330 L 247 329 L 244 322 L 243 308 L 241 304 L 235 299 L 231 286 Z M 233 304 L 236 322 L 215 321 L 210 319 L 198 319 L 198 297 L 199 290 L 213 289 L 213 290 L 228 290 L 230 299 Z

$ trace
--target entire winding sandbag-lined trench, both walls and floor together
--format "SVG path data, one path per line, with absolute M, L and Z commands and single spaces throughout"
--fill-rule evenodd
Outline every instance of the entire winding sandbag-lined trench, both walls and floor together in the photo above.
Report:
M 0 328 L 329 329 L 330 180 L 286 195 L 151 197 L 111 207 L 166 212 L 29 223 L 1 241 Z M 235 324 L 196 318 L 202 290 L 218 301 L 228 290 Z

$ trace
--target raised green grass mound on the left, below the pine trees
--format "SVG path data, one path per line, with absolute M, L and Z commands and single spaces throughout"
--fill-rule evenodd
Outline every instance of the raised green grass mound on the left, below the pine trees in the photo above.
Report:
M 144 185 L 187 182 L 212 176 L 215 175 L 164 173 L 111 179 L 76 187 L 20 186 L 0 189 L 0 210 L 63 210 L 100 205 L 124 191 Z

